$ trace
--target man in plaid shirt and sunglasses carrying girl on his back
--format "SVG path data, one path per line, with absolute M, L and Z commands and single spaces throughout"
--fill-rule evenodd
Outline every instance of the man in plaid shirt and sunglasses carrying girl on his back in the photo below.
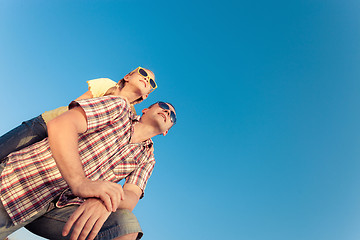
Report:
M 50 211 L 50 207 L 60 194 L 57 207 L 71 203 L 66 197 L 68 187 L 82 197 L 101 197 L 97 195 L 96 190 L 99 189 L 96 188 L 105 186 L 106 191 L 116 192 L 114 196 L 109 193 L 101 198 L 107 210 L 120 208 L 131 211 L 142 197 L 154 166 L 150 138 L 166 135 L 176 122 L 173 106 L 162 102 L 144 109 L 139 121 L 133 119 L 129 104 L 120 97 L 82 100 L 72 103 L 70 109 L 49 123 L 49 140 L 8 156 L 1 174 L 0 198 L 4 207 L 0 209 L 0 238 L 46 212 L 59 211 Z M 123 191 L 119 190 L 120 185 L 106 182 L 118 182 L 124 178 Z M 75 199 L 74 203 L 80 203 L 79 199 Z M 89 220 L 94 215 L 85 214 L 91 208 L 89 206 L 96 206 L 95 209 L 101 210 L 101 213 L 97 215 L 96 222 L 90 219 L 82 224 L 83 219 Z M 76 221 L 72 237 L 76 238 L 81 233 L 80 236 L 85 238 L 90 228 L 89 237 L 93 238 L 110 215 L 109 211 L 105 214 L 104 209 L 99 199 L 85 201 L 65 226 L 64 235 Z M 131 215 L 131 212 L 128 213 Z M 71 215 L 67 214 L 67 217 Z M 84 229 L 82 226 L 85 226 Z M 123 236 L 124 232 L 117 231 L 116 235 L 108 238 L 133 238 L 137 235 L 137 232 L 130 231 L 131 236 L 127 233 L 125 231 L 127 236 Z M 102 236 L 101 239 L 105 238 Z

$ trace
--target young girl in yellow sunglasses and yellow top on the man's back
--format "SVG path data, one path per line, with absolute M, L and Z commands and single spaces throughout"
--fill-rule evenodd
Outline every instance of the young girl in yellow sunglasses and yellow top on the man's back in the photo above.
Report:
M 132 110 L 135 113 L 133 104 L 137 104 L 145 100 L 149 93 L 157 88 L 154 79 L 155 75 L 153 72 L 148 69 L 138 67 L 127 74 L 118 83 L 108 78 L 98 78 L 88 81 L 89 90 L 76 100 L 102 97 L 106 95 L 117 95 L 127 100 L 129 104 L 131 104 Z M 68 107 L 60 107 L 52 111 L 44 112 L 40 116 L 23 122 L 20 126 L 1 136 L 0 162 L 2 162 L 10 153 L 23 149 L 46 138 L 46 123 L 67 110 Z

